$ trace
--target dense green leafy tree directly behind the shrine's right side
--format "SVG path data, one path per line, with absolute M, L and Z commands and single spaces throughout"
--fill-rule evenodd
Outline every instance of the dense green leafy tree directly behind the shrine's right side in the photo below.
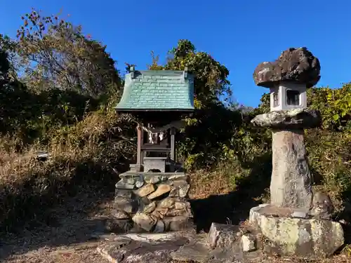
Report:
M 185 39 L 168 52 L 166 65 L 159 65 L 159 56 L 152 53 L 152 70 L 184 70 L 194 74 L 195 112 L 187 118 L 187 127 L 178 140 L 182 142 L 178 153 L 187 168 L 218 163 L 223 144 L 232 139 L 241 114 L 224 102 L 230 102 L 232 91 L 227 76 L 229 70 L 206 52 L 198 52 Z M 224 100 L 220 100 L 224 97 Z

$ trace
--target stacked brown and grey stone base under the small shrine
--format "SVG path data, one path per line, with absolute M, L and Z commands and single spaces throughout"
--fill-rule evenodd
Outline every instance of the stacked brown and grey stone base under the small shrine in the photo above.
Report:
M 112 213 L 117 232 L 194 229 L 188 175 L 128 171 L 119 177 Z

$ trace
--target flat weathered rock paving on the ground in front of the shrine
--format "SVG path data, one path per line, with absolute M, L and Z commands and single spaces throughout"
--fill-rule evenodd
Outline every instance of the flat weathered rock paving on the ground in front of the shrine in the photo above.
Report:
M 211 249 L 206 234 L 194 234 L 194 231 L 103 236 L 109 242 L 100 245 L 98 252 L 114 263 L 249 263 L 264 259 L 260 251 L 243 252 L 240 238 L 232 247 Z

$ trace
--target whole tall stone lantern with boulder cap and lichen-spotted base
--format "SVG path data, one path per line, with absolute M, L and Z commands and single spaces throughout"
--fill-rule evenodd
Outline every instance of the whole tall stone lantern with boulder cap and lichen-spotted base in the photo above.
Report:
M 256 85 L 270 88 L 271 112 L 251 123 L 272 129 L 272 179 L 270 203 L 251 208 L 249 221 L 269 241 L 267 250 L 283 256 L 326 257 L 344 242 L 343 227 L 331 218 L 331 199 L 312 191 L 306 157 L 304 129 L 322 123 L 306 97 L 319 72 L 319 60 L 307 48 L 289 48 L 253 73 Z

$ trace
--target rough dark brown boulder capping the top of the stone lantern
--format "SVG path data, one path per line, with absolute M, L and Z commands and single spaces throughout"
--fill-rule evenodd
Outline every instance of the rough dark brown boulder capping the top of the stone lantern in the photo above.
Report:
M 289 48 L 274 62 L 260 63 L 253 72 L 256 85 L 270 88 L 279 81 L 306 83 L 307 88 L 317 84 L 321 65 L 307 48 Z

